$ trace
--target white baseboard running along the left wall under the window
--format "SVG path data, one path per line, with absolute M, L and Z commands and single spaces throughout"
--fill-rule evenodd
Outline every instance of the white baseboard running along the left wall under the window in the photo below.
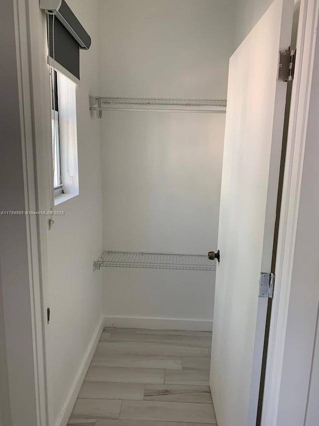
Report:
M 80 368 L 77 372 L 77 375 L 74 379 L 74 382 L 72 384 L 72 387 L 70 389 L 70 392 L 67 396 L 66 402 L 61 410 L 60 416 L 55 424 L 55 426 L 66 426 L 69 418 L 72 414 L 72 410 L 74 407 L 74 404 L 76 402 L 76 399 L 78 397 L 78 394 L 80 392 L 81 386 L 83 384 L 86 372 L 88 371 L 88 368 L 91 364 L 93 355 L 95 353 L 97 344 L 100 340 L 100 336 L 103 331 L 104 327 L 104 317 L 101 318 L 101 321 L 99 322 L 97 328 L 95 329 L 95 332 L 92 336 L 92 339 L 89 343 L 88 349 L 86 350 L 86 353 L 83 357 L 82 363 L 80 365 Z

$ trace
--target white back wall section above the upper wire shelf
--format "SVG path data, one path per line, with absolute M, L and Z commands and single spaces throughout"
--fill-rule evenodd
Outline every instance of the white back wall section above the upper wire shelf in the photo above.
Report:
M 100 0 L 108 96 L 226 98 L 233 0 Z

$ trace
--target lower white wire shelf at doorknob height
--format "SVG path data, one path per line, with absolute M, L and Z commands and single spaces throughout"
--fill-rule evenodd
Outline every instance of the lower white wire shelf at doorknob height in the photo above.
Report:
M 93 270 L 100 267 L 182 269 L 188 271 L 216 271 L 215 262 L 207 255 L 173 253 L 136 253 L 103 251 L 93 262 Z

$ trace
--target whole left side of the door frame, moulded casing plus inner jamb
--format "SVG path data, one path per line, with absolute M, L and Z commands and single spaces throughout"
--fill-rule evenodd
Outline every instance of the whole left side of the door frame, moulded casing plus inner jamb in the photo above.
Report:
M 24 169 L 24 193 L 27 211 L 50 209 L 50 90 L 43 25 L 45 18 L 34 0 L 12 0 L 19 90 L 19 115 Z M 44 76 L 47 76 L 44 81 Z M 45 141 L 48 141 L 46 144 Z M 47 177 L 47 179 L 45 179 Z M 49 386 L 47 307 L 47 215 L 26 216 L 27 243 L 32 286 L 30 300 L 33 316 L 33 348 L 36 388 L 37 425 L 51 425 L 51 388 Z M 15 337 L 19 339 L 19 336 Z M 28 368 L 27 365 L 24 366 Z M 27 424 L 27 419 L 26 419 Z M 33 426 L 33 425 L 32 425 Z

